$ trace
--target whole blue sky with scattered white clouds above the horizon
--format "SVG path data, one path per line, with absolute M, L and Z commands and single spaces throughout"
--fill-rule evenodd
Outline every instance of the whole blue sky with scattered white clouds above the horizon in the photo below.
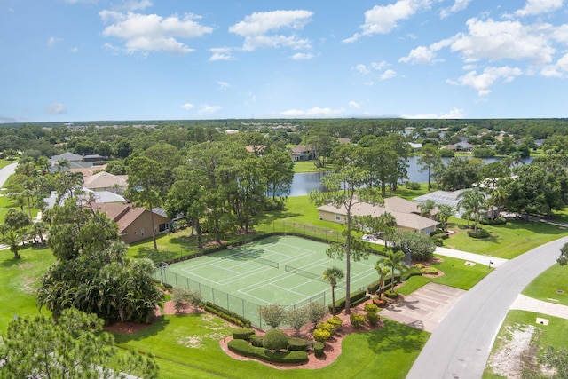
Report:
M 565 0 L 0 0 L 0 122 L 566 117 Z

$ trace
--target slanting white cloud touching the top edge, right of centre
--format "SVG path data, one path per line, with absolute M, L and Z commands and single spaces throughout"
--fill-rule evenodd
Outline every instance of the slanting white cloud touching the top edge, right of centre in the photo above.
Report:
M 394 4 L 375 5 L 365 12 L 365 23 L 361 33 L 343 40 L 344 43 L 357 41 L 361 36 L 387 34 L 398 27 L 398 22 L 409 19 L 414 13 L 430 7 L 431 0 L 398 0 Z

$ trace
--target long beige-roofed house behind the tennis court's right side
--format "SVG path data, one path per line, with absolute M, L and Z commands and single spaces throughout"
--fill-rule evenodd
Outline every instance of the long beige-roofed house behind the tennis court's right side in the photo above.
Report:
M 344 207 L 336 208 L 332 204 L 327 204 L 319 207 L 318 211 L 319 218 L 322 220 L 338 224 L 347 222 L 347 210 Z M 410 230 L 430 235 L 439 224 L 436 220 L 420 216 L 417 204 L 398 196 L 384 199 L 383 205 L 359 202 L 351 208 L 351 216 L 379 217 L 385 212 L 389 212 L 397 220 L 398 230 Z

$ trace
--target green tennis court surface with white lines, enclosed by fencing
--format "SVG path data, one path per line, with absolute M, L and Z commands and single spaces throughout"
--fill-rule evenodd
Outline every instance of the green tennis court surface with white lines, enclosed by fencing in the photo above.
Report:
M 275 303 L 288 308 L 312 301 L 330 304 L 331 288 L 321 273 L 333 265 L 344 270 L 345 262 L 327 257 L 327 248 L 318 241 L 273 236 L 169 265 L 162 277 L 177 287 L 200 289 L 208 301 L 211 292 L 211 297 L 217 297 L 214 303 L 239 314 L 256 313 L 258 306 Z M 378 279 L 376 260 L 370 256 L 351 262 L 351 291 Z M 345 296 L 344 288 L 344 279 L 339 280 L 337 298 Z M 246 308 L 253 311 L 245 312 Z

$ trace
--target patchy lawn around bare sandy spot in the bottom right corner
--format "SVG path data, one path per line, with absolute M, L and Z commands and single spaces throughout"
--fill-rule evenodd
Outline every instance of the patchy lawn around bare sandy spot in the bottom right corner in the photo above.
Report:
M 536 323 L 536 318 L 540 317 L 542 319 L 548 319 L 548 325 L 540 325 Z M 493 350 L 498 351 L 502 345 L 502 340 L 507 336 L 508 328 L 515 328 L 519 325 L 532 325 L 537 328 L 538 338 L 534 338 L 533 342 L 539 346 L 540 349 L 546 348 L 548 346 L 553 346 L 555 348 L 565 348 L 565 331 L 568 328 L 568 320 L 558 319 L 556 317 L 548 316 L 546 314 L 535 313 L 535 312 L 525 312 L 525 311 L 509 311 L 507 317 L 501 325 L 501 330 L 493 344 Z M 517 327 L 518 328 L 518 327 Z M 536 333 L 535 333 L 536 335 Z M 538 353 L 537 353 L 538 354 Z M 492 373 L 489 365 L 485 367 L 485 372 L 483 375 L 484 379 L 497 379 L 502 378 L 500 375 L 495 375 Z

